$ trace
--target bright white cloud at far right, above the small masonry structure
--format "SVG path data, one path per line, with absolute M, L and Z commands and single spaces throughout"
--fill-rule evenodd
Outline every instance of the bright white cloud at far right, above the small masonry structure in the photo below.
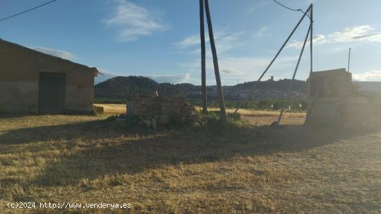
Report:
M 372 32 L 375 29 L 369 25 L 353 26 L 344 28 L 343 30 L 331 33 L 330 35 L 315 35 L 313 37 L 314 44 L 335 44 L 345 42 L 381 42 L 381 32 Z M 310 44 L 308 40 L 307 44 Z M 294 41 L 286 46 L 286 48 L 301 48 L 303 42 Z

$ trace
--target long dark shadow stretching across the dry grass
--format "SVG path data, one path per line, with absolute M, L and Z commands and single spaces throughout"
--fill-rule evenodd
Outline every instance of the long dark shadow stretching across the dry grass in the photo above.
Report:
M 14 149 L 17 149 L 20 143 L 51 140 L 53 143 L 46 143 L 39 149 L 62 148 L 63 145 L 54 141 L 67 142 L 64 145 L 67 150 L 76 147 L 76 152 L 57 157 L 58 161 L 50 163 L 33 181 L 37 186 L 56 186 L 78 184 L 83 178 L 134 174 L 161 166 L 213 162 L 236 155 L 308 150 L 369 133 L 289 125 L 279 129 L 245 127 L 224 132 L 171 131 L 134 137 L 112 121 L 91 121 L 12 130 L 0 135 L 0 146 L 16 146 Z M 80 145 L 76 143 L 79 140 L 82 141 Z

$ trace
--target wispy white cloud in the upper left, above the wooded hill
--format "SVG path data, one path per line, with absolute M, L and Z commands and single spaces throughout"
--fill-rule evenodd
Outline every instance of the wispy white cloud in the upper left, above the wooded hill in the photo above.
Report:
M 141 36 L 168 30 L 169 26 L 161 21 L 161 15 L 154 15 L 154 12 L 127 0 L 117 3 L 114 15 L 104 22 L 118 28 L 120 41 L 136 41 Z

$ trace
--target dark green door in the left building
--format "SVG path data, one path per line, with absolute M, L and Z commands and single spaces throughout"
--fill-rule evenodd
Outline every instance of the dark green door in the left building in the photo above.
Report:
M 39 73 L 40 114 L 60 114 L 64 111 L 66 95 L 65 73 Z

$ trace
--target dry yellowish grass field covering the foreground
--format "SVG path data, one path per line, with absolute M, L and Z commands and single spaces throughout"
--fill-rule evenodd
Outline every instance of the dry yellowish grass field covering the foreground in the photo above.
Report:
M 241 114 L 251 125 L 155 134 L 123 130 L 107 114 L 0 116 L 0 213 L 381 212 L 381 132 L 312 130 L 300 125 L 303 114 L 270 129 L 263 124 L 276 112 Z

